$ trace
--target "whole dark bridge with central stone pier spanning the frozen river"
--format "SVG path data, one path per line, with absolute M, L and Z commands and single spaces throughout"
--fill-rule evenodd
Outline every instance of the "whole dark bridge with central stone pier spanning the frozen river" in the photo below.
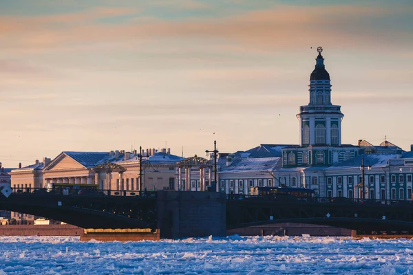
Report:
M 0 209 L 81 228 L 160 229 L 161 237 L 168 238 L 224 235 L 228 229 L 272 223 L 330 225 L 359 232 L 413 232 L 413 204 L 409 201 L 226 199 L 218 192 L 111 194 L 14 192 L 9 197 L 0 196 Z

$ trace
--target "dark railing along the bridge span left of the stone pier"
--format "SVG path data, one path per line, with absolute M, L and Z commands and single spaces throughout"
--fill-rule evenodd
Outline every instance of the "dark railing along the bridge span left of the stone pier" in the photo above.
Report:
M 156 191 L 139 190 L 101 190 L 85 188 L 12 188 L 16 194 L 70 195 L 70 196 L 118 196 L 118 197 L 156 197 Z

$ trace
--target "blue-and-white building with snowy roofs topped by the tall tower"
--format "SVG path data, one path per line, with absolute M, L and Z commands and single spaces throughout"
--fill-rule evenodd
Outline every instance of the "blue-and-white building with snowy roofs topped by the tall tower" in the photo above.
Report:
M 300 144 L 261 144 L 220 159 L 219 190 L 246 194 L 252 186 L 290 186 L 314 189 L 319 197 L 361 198 L 364 179 L 365 198 L 412 199 L 413 145 L 405 152 L 388 140 L 342 144 L 344 115 L 332 104 L 322 48 L 317 52 L 309 102 L 297 114 Z

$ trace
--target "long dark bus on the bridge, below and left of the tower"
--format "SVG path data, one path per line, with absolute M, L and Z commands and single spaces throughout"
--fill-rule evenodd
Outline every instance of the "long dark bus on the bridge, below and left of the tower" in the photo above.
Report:
M 314 201 L 315 191 L 306 188 L 253 187 L 251 195 L 279 201 Z

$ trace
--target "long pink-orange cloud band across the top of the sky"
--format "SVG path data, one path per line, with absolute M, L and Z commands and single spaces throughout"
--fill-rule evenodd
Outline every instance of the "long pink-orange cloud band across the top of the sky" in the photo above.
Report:
M 199 2 L 189 1 L 199 4 Z M 370 47 L 380 42 L 397 43 L 387 34 L 364 25 L 366 18 L 394 16 L 399 10 L 362 6 L 297 7 L 275 5 L 271 10 L 245 12 L 221 19 L 166 21 L 136 17 L 125 24 L 96 23 L 96 19 L 122 14 L 138 14 L 138 9 L 94 8 L 74 14 L 47 17 L 0 17 L 0 28 L 8 34 L 0 40 L 6 47 L 47 50 L 93 43 L 135 44 L 160 39 L 198 39 L 212 43 L 220 40 L 251 51 L 282 52 L 285 47 L 308 47 L 317 41 L 330 46 L 352 47 L 354 43 Z M 363 20 L 361 20 L 361 18 Z M 3 36 L 5 37 L 5 36 Z M 332 39 L 334 38 L 334 39 Z M 325 44 L 324 44 L 325 45 Z M 127 46 L 125 46 L 127 47 Z M 380 46 L 379 46 L 380 47 Z

